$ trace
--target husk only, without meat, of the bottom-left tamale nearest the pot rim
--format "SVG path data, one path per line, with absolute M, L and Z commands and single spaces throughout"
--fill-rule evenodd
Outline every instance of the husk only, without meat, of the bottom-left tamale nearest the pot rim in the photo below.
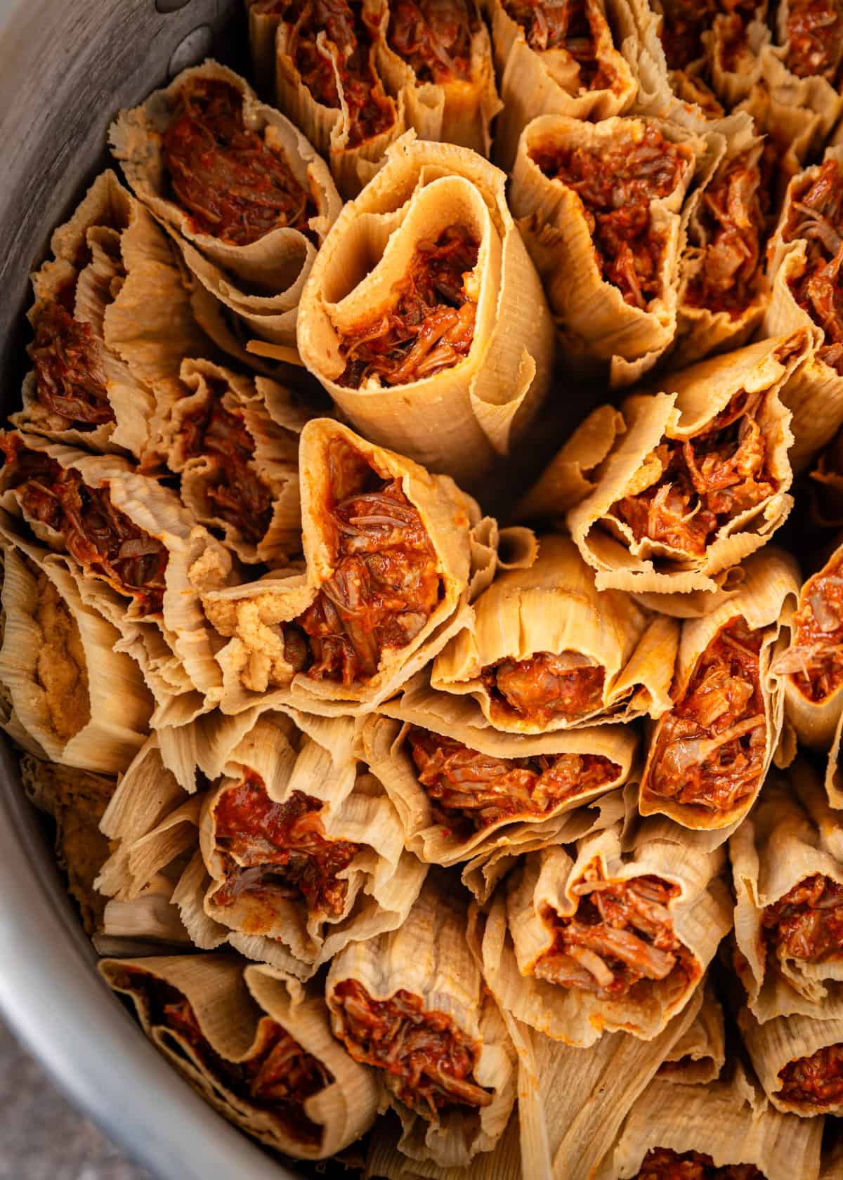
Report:
M 103 959 L 99 969 L 109 986 L 132 999 L 146 1036 L 202 1097 L 267 1147 L 296 1159 L 324 1159 L 371 1126 L 377 1100 L 372 1077 L 331 1036 L 321 996 L 299 981 L 270 968 L 244 970 L 240 959 L 222 955 Z M 301 1108 L 321 1132 L 318 1142 L 296 1135 L 286 1122 L 283 1100 L 273 1110 L 272 1100 L 251 1097 L 248 1081 L 246 1094 L 233 1090 L 231 1074 L 156 1011 L 145 979 L 168 984 L 187 999 L 208 1045 L 235 1067 L 235 1076 L 236 1067 L 267 1053 L 266 1038 L 276 1024 L 314 1056 L 331 1079 Z

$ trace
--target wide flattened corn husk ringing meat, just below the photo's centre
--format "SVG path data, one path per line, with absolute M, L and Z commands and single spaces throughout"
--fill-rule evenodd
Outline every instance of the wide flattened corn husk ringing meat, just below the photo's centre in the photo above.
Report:
M 419 673 L 400 697 L 380 706 L 362 722 L 362 758 L 384 784 L 398 811 L 404 841 L 417 857 L 430 864 L 453 865 L 485 859 L 495 848 L 516 850 L 522 839 L 540 831 L 553 833 L 562 818 L 581 804 L 622 786 L 636 750 L 636 735 L 622 726 L 601 726 L 570 733 L 528 738 L 505 735 L 495 729 L 478 729 L 459 720 L 459 703 L 436 693 L 426 673 Z M 596 754 L 614 762 L 615 775 L 605 784 L 560 802 L 551 811 L 512 814 L 478 828 L 470 837 L 449 832 L 431 815 L 431 799 L 418 781 L 412 753 L 406 745 L 411 725 L 460 741 L 492 758 L 529 758 L 554 754 Z

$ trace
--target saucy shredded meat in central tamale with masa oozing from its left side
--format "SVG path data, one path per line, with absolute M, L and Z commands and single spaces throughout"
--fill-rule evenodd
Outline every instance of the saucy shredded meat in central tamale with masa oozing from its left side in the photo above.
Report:
M 299 649 L 299 670 L 311 661 L 309 676 L 351 686 L 377 673 L 384 649 L 416 638 L 439 604 L 443 582 L 401 480 L 381 479 L 340 440 L 331 444 L 328 466 L 334 571 L 288 629 L 287 647 Z

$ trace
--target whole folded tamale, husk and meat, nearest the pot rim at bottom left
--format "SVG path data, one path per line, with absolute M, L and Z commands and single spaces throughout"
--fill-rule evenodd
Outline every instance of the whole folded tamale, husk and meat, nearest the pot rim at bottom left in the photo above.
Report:
M 372 1125 L 373 1079 L 331 1036 L 316 990 L 223 955 L 106 958 L 99 970 L 202 1097 L 267 1147 L 321 1160 Z

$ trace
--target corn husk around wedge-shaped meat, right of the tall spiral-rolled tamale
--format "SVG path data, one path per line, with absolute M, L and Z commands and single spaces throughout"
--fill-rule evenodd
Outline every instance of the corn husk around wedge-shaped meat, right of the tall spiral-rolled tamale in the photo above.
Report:
M 574 188 L 545 176 L 534 158 L 542 149 L 583 149 L 600 158 L 613 145 L 629 152 L 648 133 L 661 133 L 681 145 L 675 184 L 648 203 L 652 231 L 660 242 L 658 294 L 645 307 L 625 301 L 615 283 L 602 276 L 593 238 L 594 221 Z M 581 123 L 544 114 L 524 129 L 512 170 L 510 203 L 530 256 L 548 291 L 548 302 L 562 334 L 566 360 L 586 373 L 608 375 L 613 385 L 629 385 L 655 365 L 677 329 L 679 255 L 682 247 L 682 204 L 705 140 L 685 127 L 641 118 Z M 575 280 L 574 277 L 575 276 Z

